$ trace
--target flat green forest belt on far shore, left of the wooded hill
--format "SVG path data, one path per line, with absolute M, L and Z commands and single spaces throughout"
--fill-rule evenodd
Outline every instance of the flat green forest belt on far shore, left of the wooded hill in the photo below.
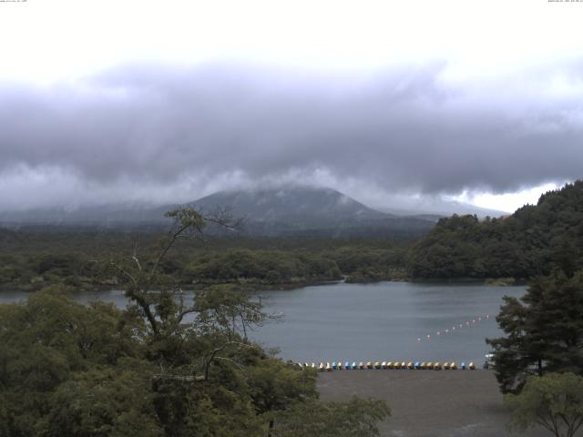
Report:
M 2 231 L 0 231 L 2 232 Z M 0 234 L 0 287 L 39 290 L 55 283 L 77 288 L 116 287 L 110 269 L 118 253 L 154 253 L 148 234 Z M 108 248 L 108 249 L 107 249 Z M 403 279 L 407 243 L 390 240 L 210 239 L 182 241 L 160 268 L 185 286 L 238 283 L 294 287 L 328 280 Z

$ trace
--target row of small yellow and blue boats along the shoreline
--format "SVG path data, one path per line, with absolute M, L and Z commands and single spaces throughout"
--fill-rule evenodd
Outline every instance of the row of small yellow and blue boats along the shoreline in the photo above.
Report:
M 410 361 L 410 362 L 405 362 L 405 361 L 360 361 L 358 364 L 356 363 L 356 361 L 353 361 L 352 363 L 350 361 L 345 361 L 344 363 L 342 361 L 332 361 L 332 363 L 330 362 L 326 362 L 325 364 L 323 362 L 321 362 L 320 364 L 318 364 L 316 366 L 315 362 L 312 362 L 312 364 L 309 364 L 307 362 L 298 362 L 297 363 L 300 367 L 302 368 L 312 368 L 312 369 L 318 369 L 318 371 L 342 371 L 342 370 L 346 370 L 346 371 L 350 371 L 350 370 L 364 370 L 364 369 L 408 369 L 408 370 L 418 370 L 418 371 L 424 371 L 424 370 L 434 370 L 434 371 L 441 371 L 442 369 L 444 369 L 445 371 L 456 371 L 458 369 L 465 371 L 470 370 L 470 371 L 475 371 L 476 370 L 476 364 L 474 364 L 473 362 L 468 363 L 467 365 L 465 364 L 465 362 L 462 362 L 459 367 L 457 366 L 457 364 L 455 362 L 444 362 L 443 364 L 441 362 L 434 362 L 434 361 Z

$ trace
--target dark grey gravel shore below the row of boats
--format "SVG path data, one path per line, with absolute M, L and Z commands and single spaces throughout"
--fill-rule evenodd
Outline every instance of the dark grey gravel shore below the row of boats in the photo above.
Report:
M 387 437 L 511 435 L 492 371 L 332 371 L 319 374 L 318 388 L 324 401 L 353 394 L 387 401 L 392 415 L 381 425 Z M 550 434 L 537 428 L 518 435 Z

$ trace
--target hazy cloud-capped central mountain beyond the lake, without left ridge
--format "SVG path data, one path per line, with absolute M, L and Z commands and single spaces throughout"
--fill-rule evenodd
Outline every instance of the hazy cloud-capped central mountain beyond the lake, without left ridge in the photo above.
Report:
M 434 226 L 431 220 L 377 211 L 331 188 L 220 191 L 191 205 L 207 213 L 226 208 L 233 217 L 244 219 L 251 235 L 408 238 Z

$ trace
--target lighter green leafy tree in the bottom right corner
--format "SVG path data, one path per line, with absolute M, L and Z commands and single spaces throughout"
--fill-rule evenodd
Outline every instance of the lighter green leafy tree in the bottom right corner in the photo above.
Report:
M 583 424 L 583 377 L 573 373 L 531 377 L 520 394 L 506 394 L 504 401 L 512 411 L 511 430 L 524 432 L 540 425 L 556 437 L 573 437 Z

